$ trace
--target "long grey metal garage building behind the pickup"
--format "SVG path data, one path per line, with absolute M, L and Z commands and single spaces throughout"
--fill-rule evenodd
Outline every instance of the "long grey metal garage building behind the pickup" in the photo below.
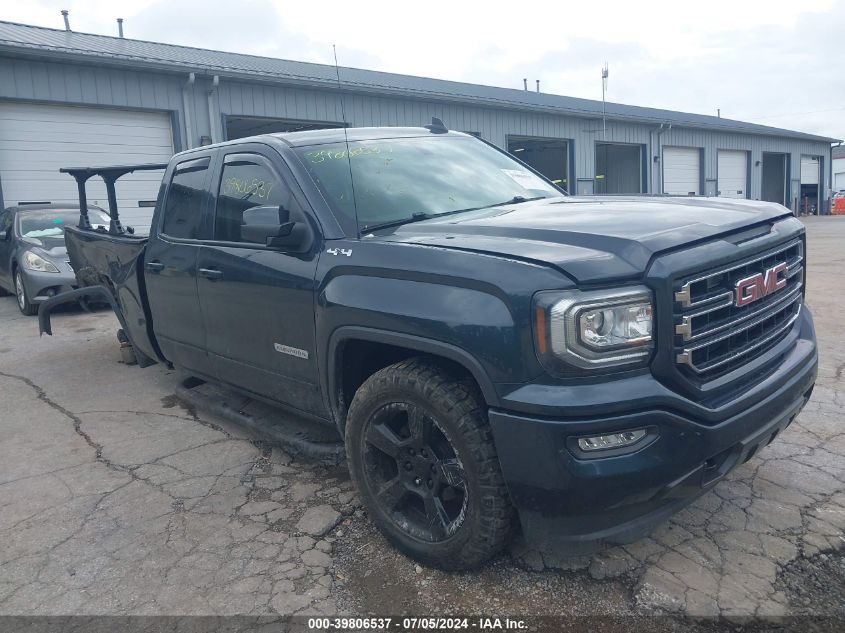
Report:
M 225 139 L 341 126 L 342 105 L 352 126 L 439 117 L 572 193 L 829 204 L 835 139 L 613 103 L 603 115 L 599 101 L 353 68 L 340 78 L 321 64 L 0 22 L 0 208 L 75 200 L 59 167 L 159 162 Z M 118 202 L 143 226 L 158 175 L 130 178 Z

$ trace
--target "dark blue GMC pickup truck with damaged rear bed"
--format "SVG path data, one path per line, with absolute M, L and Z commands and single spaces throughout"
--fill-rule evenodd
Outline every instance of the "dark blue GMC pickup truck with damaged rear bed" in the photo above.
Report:
M 85 181 L 162 168 L 149 237 Z M 372 521 L 446 569 L 515 529 L 624 543 L 795 418 L 817 370 L 805 235 L 751 200 L 573 197 L 440 122 L 67 169 L 79 296 L 163 363 L 337 429 Z M 280 421 L 280 424 L 283 422 Z

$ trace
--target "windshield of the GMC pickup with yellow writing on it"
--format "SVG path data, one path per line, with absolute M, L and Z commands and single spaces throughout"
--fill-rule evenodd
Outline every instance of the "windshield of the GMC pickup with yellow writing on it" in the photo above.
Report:
M 357 206 L 361 230 L 415 216 L 563 195 L 507 154 L 468 137 L 356 141 L 349 143 L 348 153 L 343 142 L 296 151 L 336 213 L 355 218 Z

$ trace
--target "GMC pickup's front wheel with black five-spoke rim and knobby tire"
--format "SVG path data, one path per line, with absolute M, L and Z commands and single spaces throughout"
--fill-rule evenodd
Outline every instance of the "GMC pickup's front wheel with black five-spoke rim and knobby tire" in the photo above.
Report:
M 513 508 L 480 399 L 421 359 L 373 374 L 349 407 L 346 450 L 364 506 L 400 551 L 471 569 L 508 542 Z

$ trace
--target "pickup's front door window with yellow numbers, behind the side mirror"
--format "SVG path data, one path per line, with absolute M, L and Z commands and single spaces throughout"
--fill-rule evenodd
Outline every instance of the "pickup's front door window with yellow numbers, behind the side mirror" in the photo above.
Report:
M 214 239 L 223 242 L 248 242 L 241 227 L 248 224 L 273 226 L 291 219 L 296 202 L 288 186 L 260 159 L 236 160 L 223 166 L 217 208 L 214 214 Z

